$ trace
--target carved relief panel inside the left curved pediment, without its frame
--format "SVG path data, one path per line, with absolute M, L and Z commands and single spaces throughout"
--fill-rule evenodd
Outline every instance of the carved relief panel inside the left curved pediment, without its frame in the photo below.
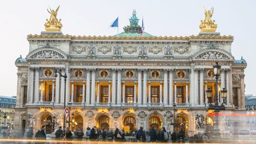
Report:
M 65 56 L 55 50 L 40 50 L 30 56 L 31 59 L 64 59 Z

